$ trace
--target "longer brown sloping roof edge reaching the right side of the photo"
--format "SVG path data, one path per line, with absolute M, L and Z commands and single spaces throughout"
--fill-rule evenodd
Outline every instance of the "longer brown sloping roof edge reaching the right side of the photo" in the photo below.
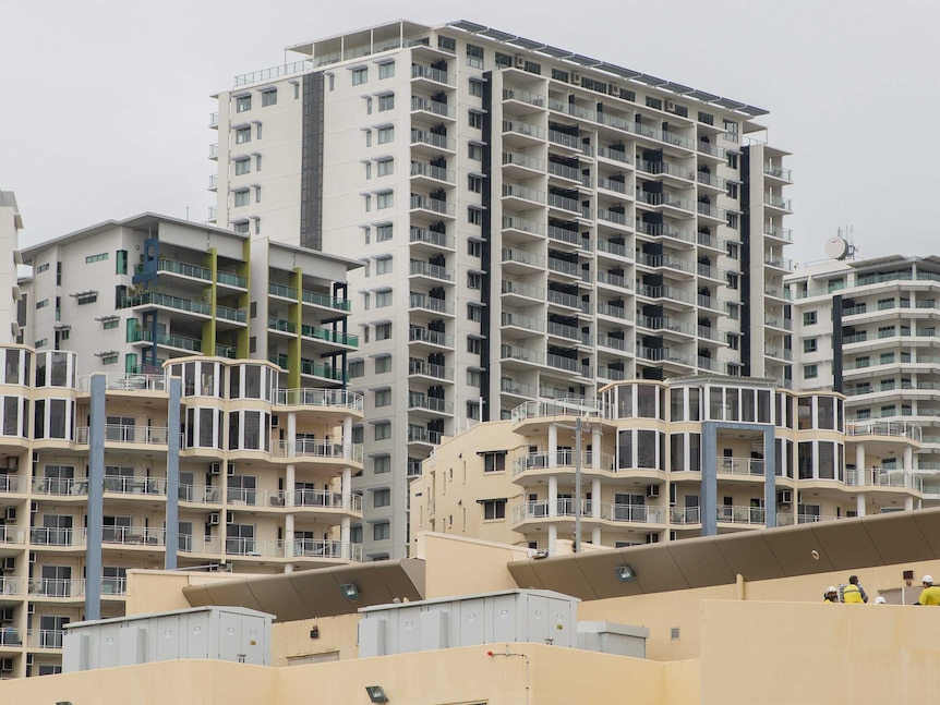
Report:
M 940 508 L 763 528 L 507 564 L 519 587 L 583 600 L 940 559 Z M 622 583 L 627 564 L 635 580 Z

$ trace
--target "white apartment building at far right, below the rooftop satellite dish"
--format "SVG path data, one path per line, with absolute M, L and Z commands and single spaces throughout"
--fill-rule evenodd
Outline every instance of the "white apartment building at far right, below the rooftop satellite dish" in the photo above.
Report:
M 847 422 L 908 422 L 923 429 L 915 472 L 940 484 L 940 258 L 833 260 L 786 279 L 802 390 L 845 394 Z M 855 465 L 867 467 L 864 453 Z M 901 458 L 881 465 L 902 467 Z

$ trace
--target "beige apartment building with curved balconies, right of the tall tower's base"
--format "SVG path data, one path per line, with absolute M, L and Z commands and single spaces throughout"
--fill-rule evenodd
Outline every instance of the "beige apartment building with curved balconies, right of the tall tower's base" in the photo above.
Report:
M 940 487 L 917 471 L 920 427 L 849 422 L 845 403 L 702 376 L 616 382 L 593 403 L 527 402 L 435 450 L 411 484 L 411 524 L 554 556 L 574 542 L 623 547 L 936 502 Z

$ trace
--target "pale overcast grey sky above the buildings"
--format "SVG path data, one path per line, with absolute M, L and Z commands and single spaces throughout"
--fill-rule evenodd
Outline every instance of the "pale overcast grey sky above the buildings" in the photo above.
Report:
M 771 111 L 794 154 L 799 262 L 854 226 L 863 256 L 937 252 L 936 0 L 400 2 L 4 0 L 0 186 L 24 244 L 144 210 L 206 218 L 209 95 L 284 47 L 409 19 L 458 19 Z

